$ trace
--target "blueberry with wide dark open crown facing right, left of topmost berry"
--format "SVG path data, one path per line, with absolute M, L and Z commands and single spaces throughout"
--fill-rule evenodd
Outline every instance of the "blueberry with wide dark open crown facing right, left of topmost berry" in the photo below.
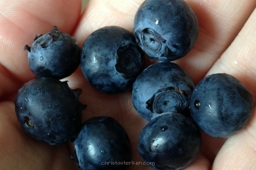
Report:
M 92 87 L 106 94 L 121 94 L 131 89 L 144 63 L 144 52 L 134 35 L 117 26 L 94 31 L 81 50 L 84 77 Z

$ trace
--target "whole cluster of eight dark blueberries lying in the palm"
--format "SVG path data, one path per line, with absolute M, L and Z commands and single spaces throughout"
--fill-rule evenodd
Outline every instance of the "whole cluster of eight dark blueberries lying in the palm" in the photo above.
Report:
M 148 124 L 138 139 L 145 162 L 157 170 L 181 170 L 200 152 L 200 129 L 213 137 L 241 131 L 252 116 L 252 96 L 235 77 L 217 73 L 194 85 L 188 73 L 171 62 L 196 43 L 199 25 L 183 0 L 145 0 L 138 9 L 133 34 L 121 27 L 102 27 L 85 40 L 58 31 L 37 35 L 28 63 L 38 77 L 15 99 L 16 115 L 28 135 L 50 145 L 74 141 L 72 159 L 81 170 L 127 169 L 132 156 L 124 128 L 113 118 L 93 117 L 81 124 L 81 89 L 60 81 L 81 66 L 86 80 L 102 93 L 132 89 L 136 111 Z M 151 61 L 144 69 L 147 54 Z M 190 114 L 191 113 L 191 117 Z M 77 136 L 76 136 L 77 135 Z M 76 137 L 76 138 L 75 138 Z

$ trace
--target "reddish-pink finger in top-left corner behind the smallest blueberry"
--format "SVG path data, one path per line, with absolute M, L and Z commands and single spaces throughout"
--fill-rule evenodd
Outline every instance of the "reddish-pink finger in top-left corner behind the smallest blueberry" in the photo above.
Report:
M 31 46 L 37 34 L 45 34 L 53 26 L 71 34 L 80 11 L 80 0 L 0 1 L 0 95 L 35 77 L 24 46 Z

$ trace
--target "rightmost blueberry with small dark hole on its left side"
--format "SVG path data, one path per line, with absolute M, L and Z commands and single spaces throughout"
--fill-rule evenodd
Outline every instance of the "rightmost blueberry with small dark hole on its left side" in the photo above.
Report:
M 201 80 L 191 96 L 191 114 L 206 134 L 226 138 L 241 131 L 252 116 L 252 96 L 235 77 L 226 73 Z

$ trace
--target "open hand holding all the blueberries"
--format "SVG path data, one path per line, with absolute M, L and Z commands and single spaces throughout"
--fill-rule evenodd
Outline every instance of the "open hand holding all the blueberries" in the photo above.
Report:
M 185 0 L 198 17 L 200 32 L 192 51 L 177 61 L 195 84 L 212 73 L 237 77 L 252 93 L 254 112 L 243 131 L 228 139 L 202 133 L 196 161 L 184 170 L 256 169 L 256 0 Z M 28 67 L 28 52 L 37 34 L 57 26 L 83 45 L 103 26 L 133 29 L 135 12 L 143 0 L 91 0 L 82 15 L 80 0 L 0 0 L 0 170 L 79 170 L 72 161 L 73 143 L 49 146 L 29 137 L 16 118 L 18 89 L 35 78 Z M 153 62 L 147 61 L 147 66 Z M 80 101 L 88 107 L 83 122 L 93 116 L 111 116 L 128 133 L 132 161 L 143 162 L 137 149 L 140 130 L 147 124 L 132 105 L 131 91 L 118 96 L 102 94 L 85 80 L 79 68 L 68 80 L 83 90 Z M 232 109 L 232 108 L 231 108 Z M 152 170 L 131 165 L 129 170 Z

